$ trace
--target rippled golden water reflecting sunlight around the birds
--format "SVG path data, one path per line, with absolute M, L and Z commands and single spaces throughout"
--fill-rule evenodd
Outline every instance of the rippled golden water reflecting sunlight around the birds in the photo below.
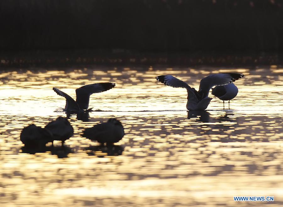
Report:
M 210 73 L 240 72 L 230 110 L 214 98 L 207 111 L 186 110 L 186 90 L 164 86 L 169 74 L 198 89 Z M 88 68 L 2 71 L 0 82 L 0 204 L 49 206 L 263 205 L 233 196 L 274 196 L 283 204 L 283 69 Z M 85 116 L 53 112 L 65 106 L 52 87 L 114 82 L 93 94 Z M 211 95 L 210 95 L 211 96 Z M 225 104 L 228 107 L 228 103 Z M 74 136 L 46 152 L 26 152 L 23 127 L 68 116 Z M 81 137 L 110 117 L 125 137 L 110 149 Z M 33 154 L 35 153 L 35 154 Z M 118 156 L 119 155 L 119 156 Z

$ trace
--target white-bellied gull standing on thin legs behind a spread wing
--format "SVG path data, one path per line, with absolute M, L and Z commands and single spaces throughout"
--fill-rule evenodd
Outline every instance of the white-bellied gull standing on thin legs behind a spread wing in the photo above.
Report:
M 230 109 L 230 100 L 238 94 L 238 88 L 234 83 L 227 85 L 218 85 L 212 88 L 211 94 L 223 101 L 223 109 L 225 109 L 224 101 L 228 101 Z

